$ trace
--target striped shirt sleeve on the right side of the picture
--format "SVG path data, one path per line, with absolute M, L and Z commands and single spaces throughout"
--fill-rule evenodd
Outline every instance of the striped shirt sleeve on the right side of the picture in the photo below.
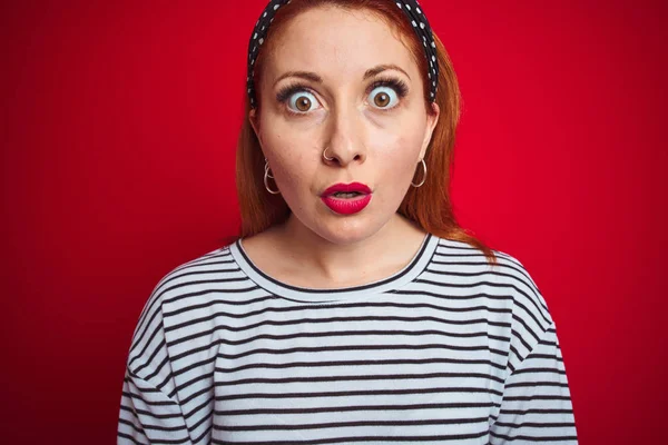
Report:
M 577 444 L 566 368 L 554 324 L 505 379 L 491 444 Z

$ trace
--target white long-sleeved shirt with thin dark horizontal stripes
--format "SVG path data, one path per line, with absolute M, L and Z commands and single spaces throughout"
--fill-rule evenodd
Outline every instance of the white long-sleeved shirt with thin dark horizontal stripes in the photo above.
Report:
M 119 444 L 577 444 L 554 322 L 514 257 L 428 234 L 389 278 L 295 287 L 240 240 L 154 288 Z

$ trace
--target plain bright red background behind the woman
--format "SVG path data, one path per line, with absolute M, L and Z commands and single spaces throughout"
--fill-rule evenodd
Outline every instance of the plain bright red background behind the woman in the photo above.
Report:
M 539 285 L 580 442 L 660 441 L 668 3 L 422 3 L 464 98 L 460 221 Z M 149 293 L 238 225 L 246 46 L 265 4 L 0 7 L 3 443 L 115 443 Z

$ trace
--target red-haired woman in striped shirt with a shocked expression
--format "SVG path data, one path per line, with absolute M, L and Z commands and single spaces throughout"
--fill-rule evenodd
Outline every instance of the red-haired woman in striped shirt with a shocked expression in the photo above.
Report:
M 240 237 L 156 286 L 119 443 L 577 443 L 554 322 L 449 199 L 459 90 L 416 1 L 272 1 Z

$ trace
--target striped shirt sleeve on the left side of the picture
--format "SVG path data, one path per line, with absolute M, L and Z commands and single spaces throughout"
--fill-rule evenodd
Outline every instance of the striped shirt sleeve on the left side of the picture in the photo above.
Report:
M 117 444 L 193 444 L 167 348 L 163 318 L 164 277 L 147 300 L 128 354 Z

